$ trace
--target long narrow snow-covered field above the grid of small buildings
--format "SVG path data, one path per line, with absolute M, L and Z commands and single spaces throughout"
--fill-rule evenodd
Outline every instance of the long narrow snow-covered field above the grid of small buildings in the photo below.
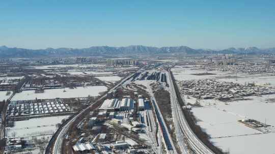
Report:
M 12 98 L 12 101 L 17 100 L 34 100 L 34 99 L 54 99 L 54 98 L 76 98 L 76 97 L 88 97 L 98 96 L 100 92 L 107 90 L 105 86 L 89 86 L 89 87 L 77 87 L 76 89 L 46 89 L 44 93 L 35 93 L 34 90 L 25 90 L 21 93 L 16 93 Z

